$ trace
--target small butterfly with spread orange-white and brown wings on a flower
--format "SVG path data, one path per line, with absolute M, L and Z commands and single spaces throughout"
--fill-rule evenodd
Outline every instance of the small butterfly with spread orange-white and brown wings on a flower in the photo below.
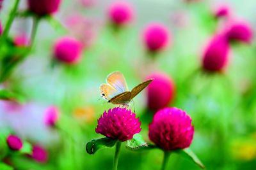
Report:
M 124 75 L 120 71 L 114 71 L 107 76 L 106 83 L 100 85 L 100 94 L 108 103 L 127 106 L 153 80 L 146 80 L 129 91 Z

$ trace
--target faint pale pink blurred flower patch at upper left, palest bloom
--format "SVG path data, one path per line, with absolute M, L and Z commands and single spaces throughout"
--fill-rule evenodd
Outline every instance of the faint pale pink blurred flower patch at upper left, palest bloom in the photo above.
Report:
M 71 15 L 65 21 L 72 36 L 81 41 L 84 48 L 90 47 L 96 39 L 98 24 L 82 15 Z

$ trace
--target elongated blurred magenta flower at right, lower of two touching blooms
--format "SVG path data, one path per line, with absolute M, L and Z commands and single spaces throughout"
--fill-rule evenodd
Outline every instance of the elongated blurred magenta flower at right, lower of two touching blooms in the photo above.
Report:
M 205 48 L 202 68 L 208 72 L 223 71 L 228 63 L 230 45 L 225 34 L 214 36 Z

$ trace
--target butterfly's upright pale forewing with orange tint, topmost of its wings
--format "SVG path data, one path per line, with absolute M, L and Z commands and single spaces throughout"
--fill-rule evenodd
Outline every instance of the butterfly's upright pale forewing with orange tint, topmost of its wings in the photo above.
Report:
M 120 71 L 114 71 L 113 73 L 109 74 L 106 81 L 109 83 L 109 85 L 116 89 L 119 94 L 129 91 L 124 75 Z

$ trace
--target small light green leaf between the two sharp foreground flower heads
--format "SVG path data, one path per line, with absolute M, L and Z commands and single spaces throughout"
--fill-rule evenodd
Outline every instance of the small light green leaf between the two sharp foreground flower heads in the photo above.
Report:
M 134 134 L 131 140 L 126 141 L 126 148 L 130 150 L 139 150 L 147 146 L 147 143 L 144 141 L 143 137 L 140 134 Z

